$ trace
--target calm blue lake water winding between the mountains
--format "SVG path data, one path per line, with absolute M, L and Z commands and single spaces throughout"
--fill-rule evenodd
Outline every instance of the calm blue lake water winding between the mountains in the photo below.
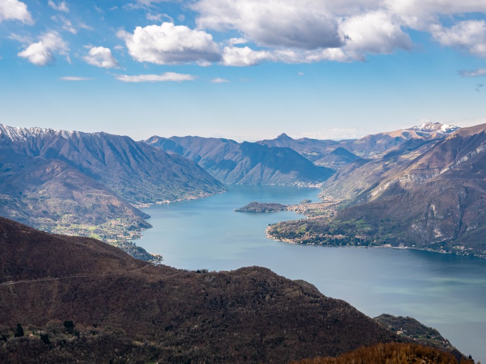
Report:
M 486 363 L 486 259 L 409 249 L 301 246 L 265 237 L 269 223 L 293 212 L 234 212 L 252 201 L 318 201 L 319 190 L 231 185 L 209 198 L 144 209 L 152 229 L 137 240 L 176 268 L 231 270 L 265 266 L 314 284 L 375 317 L 412 316 L 463 353 Z

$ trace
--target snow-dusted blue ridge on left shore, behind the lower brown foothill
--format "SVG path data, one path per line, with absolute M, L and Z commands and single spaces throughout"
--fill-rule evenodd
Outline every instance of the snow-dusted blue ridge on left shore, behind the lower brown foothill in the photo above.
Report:
M 63 161 L 131 203 L 221 191 L 221 184 L 187 159 L 128 136 L 2 125 L 0 146 L 28 158 Z

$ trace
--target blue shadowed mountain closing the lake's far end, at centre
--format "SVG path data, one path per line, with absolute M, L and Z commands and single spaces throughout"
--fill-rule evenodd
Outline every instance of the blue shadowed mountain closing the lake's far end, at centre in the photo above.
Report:
M 199 136 L 152 136 L 145 143 L 191 158 L 224 183 L 308 185 L 333 174 L 290 148 Z

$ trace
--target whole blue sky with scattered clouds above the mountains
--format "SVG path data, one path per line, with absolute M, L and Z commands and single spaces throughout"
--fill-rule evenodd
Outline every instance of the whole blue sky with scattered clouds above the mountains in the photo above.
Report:
M 486 0 L 0 0 L 0 123 L 242 140 L 486 122 Z

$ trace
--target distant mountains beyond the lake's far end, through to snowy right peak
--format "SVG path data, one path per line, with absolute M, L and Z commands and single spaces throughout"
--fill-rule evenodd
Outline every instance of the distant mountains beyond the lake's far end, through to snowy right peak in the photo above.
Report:
M 429 122 L 357 140 L 296 140 L 282 133 L 275 139 L 256 143 L 156 135 L 144 142 L 193 160 L 223 183 L 317 185 L 352 162 L 378 159 L 408 141 L 440 140 L 457 129 L 457 126 Z

